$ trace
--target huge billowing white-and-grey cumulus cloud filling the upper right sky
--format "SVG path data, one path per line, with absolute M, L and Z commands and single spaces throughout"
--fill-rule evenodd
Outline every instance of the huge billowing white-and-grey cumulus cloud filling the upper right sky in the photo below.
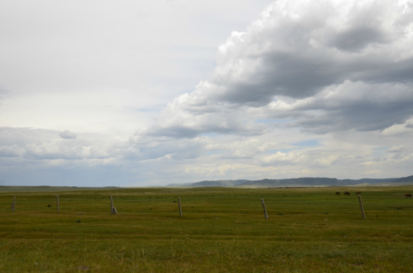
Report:
M 275 1 L 231 34 L 209 78 L 146 133 L 261 134 L 259 118 L 314 133 L 404 124 L 413 114 L 412 44 L 413 1 Z

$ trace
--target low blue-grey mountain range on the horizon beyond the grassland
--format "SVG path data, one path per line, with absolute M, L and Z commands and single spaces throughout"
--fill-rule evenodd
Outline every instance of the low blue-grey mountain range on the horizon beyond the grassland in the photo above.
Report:
M 169 184 L 170 187 L 239 187 L 239 188 L 278 188 L 299 186 L 401 186 L 413 185 L 413 175 L 401 178 L 383 179 L 337 179 L 328 177 L 300 177 L 289 179 L 261 179 L 261 180 L 216 180 L 201 181 L 187 184 Z

